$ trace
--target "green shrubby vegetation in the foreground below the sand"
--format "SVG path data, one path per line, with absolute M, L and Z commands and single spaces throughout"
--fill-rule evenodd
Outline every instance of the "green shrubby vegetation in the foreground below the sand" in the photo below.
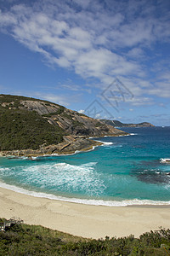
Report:
M 131 235 L 94 240 L 15 224 L 0 231 L 0 255 L 170 255 L 170 230 L 150 231 L 139 239 Z

